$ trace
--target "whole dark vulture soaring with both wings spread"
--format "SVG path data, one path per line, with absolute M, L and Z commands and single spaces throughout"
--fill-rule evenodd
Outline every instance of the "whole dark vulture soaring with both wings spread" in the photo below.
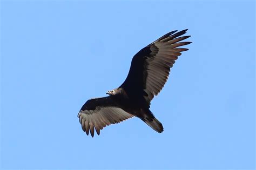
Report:
M 82 130 L 93 137 L 104 127 L 137 117 L 154 131 L 164 131 L 163 125 L 150 111 L 151 100 L 163 89 L 170 69 L 188 49 L 180 46 L 190 36 L 186 30 L 171 31 L 147 45 L 133 56 L 129 73 L 122 85 L 106 92 L 109 96 L 86 101 L 78 113 Z

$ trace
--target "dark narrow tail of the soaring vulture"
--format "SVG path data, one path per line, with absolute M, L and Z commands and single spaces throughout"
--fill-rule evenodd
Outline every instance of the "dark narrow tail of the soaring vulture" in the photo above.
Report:
M 159 120 L 157 120 L 157 118 L 154 117 L 151 111 L 150 113 L 147 113 L 144 118 L 141 118 L 141 119 L 158 133 L 161 133 L 164 131 L 163 125 L 160 123 Z

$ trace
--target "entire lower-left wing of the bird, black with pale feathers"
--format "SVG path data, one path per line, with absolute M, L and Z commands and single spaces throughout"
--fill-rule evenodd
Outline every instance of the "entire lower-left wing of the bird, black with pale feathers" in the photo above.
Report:
M 119 108 L 111 97 L 103 97 L 87 100 L 78 113 L 80 124 L 83 131 L 93 137 L 94 130 L 99 135 L 100 130 L 110 124 L 117 124 L 121 121 L 133 117 L 132 114 Z

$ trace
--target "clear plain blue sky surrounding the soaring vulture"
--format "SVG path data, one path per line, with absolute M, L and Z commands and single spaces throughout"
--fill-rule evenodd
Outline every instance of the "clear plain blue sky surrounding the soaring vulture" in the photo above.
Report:
M 77 113 L 172 30 L 193 42 L 153 99 L 95 138 Z M 255 1 L 1 1 L 1 168 L 254 169 Z

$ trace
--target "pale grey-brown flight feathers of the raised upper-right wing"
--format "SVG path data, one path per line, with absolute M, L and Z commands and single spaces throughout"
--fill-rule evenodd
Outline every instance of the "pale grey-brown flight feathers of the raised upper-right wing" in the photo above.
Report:
M 146 57 L 146 82 L 144 91 L 147 93 L 145 99 L 150 102 L 161 89 L 163 89 L 170 73 L 170 69 L 181 55 L 182 51 L 188 49 L 180 46 L 190 44 L 191 42 L 180 42 L 190 36 L 183 36 L 187 30 L 183 30 L 173 35 L 165 35 L 156 42 L 149 45 L 154 55 Z

